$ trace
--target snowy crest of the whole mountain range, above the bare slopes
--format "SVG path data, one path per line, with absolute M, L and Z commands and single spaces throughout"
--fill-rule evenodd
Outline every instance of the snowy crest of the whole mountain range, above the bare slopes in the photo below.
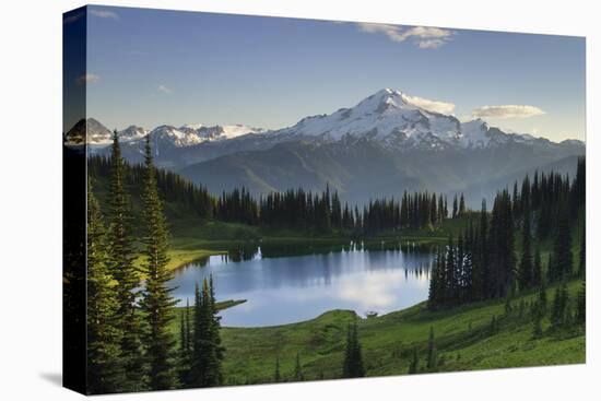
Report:
M 228 152 L 227 150 L 269 149 L 276 143 L 291 140 L 369 140 L 393 151 L 485 149 L 507 143 L 541 149 L 561 145 L 543 138 L 490 127 L 480 118 L 459 121 L 450 114 L 453 105 L 449 103 L 428 101 L 402 91 L 384 89 L 352 107 L 340 108 L 329 115 L 305 117 L 296 125 L 280 130 L 268 131 L 245 125 L 186 123 L 179 128 L 160 126 L 152 131 L 130 126 L 119 131 L 119 135 L 123 143 L 139 149 L 142 149 L 142 139 L 149 133 L 162 150 L 207 143 L 214 154 Z M 73 130 L 76 134 L 67 135 L 74 143 L 81 143 L 86 138 L 90 144 L 103 148 L 111 142 L 110 131 L 92 118 L 87 119 L 87 122 L 82 120 L 78 127 Z M 83 127 L 87 127 L 87 130 L 82 129 Z M 251 134 L 257 135 L 250 137 Z M 575 141 L 565 142 L 563 146 L 576 149 L 584 144 Z M 219 151 L 215 150 L 217 148 Z

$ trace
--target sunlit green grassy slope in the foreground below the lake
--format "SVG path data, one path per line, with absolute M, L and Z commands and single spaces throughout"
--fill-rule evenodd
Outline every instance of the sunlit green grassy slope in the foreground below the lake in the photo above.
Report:
M 579 282 L 569 285 L 575 296 Z M 553 291 L 549 295 L 552 298 Z M 526 295 L 525 299 L 534 295 Z M 520 298 L 516 298 L 517 306 Z M 406 374 L 413 347 L 425 363 L 429 328 L 434 328 L 441 370 L 571 364 L 585 362 L 585 335 L 577 333 L 557 340 L 545 335 L 532 340 L 532 326 L 500 323 L 497 333 L 488 333 L 493 316 L 504 314 L 503 299 L 431 312 L 425 303 L 381 317 L 358 319 L 365 367 L 368 376 Z M 516 312 L 517 314 L 517 312 Z M 333 310 L 316 319 L 268 328 L 224 328 L 226 347 L 224 373 L 234 382 L 271 381 L 276 355 L 281 371 L 291 376 L 299 353 L 305 377 L 340 377 L 346 326 L 355 319 L 349 310 Z M 543 322 L 543 329 L 549 321 Z

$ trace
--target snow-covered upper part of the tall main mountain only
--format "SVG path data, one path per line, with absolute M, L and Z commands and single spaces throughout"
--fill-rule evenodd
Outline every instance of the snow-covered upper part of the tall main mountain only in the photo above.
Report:
M 346 137 L 366 138 L 396 150 L 476 149 L 502 145 L 509 141 L 539 141 L 531 135 L 506 133 L 492 128 L 480 118 L 461 122 L 451 114 L 440 113 L 440 109 L 452 110 L 452 106 L 384 89 L 351 108 L 306 117 L 295 126 L 275 133 L 287 138 L 315 137 L 326 141 Z

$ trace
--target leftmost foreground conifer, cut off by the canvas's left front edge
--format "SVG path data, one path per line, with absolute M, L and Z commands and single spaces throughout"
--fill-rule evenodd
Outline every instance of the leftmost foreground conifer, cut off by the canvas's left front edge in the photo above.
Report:
M 87 391 L 122 391 L 121 359 L 115 281 L 109 273 L 106 232 L 96 198 L 87 185 Z

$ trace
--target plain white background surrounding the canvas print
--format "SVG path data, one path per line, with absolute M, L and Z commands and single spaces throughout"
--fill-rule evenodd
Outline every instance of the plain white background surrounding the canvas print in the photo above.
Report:
M 117 396 L 125 400 L 599 399 L 598 200 L 601 28 L 596 1 L 121 0 L 169 8 L 587 36 L 586 366 Z M 71 0 L 9 0 L 0 13 L 0 399 L 71 400 L 61 371 L 61 13 Z M 7 258 L 8 256 L 8 258 Z M 597 394 L 594 393 L 597 392 Z

